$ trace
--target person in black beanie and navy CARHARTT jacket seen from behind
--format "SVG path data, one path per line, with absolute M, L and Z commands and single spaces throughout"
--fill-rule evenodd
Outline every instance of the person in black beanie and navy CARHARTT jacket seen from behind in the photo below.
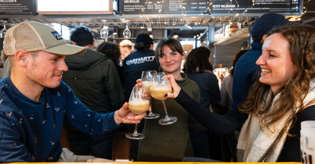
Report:
M 135 51 L 123 60 L 123 77 L 125 79 L 124 90 L 126 101 L 129 101 L 129 96 L 137 79 L 141 79 L 142 71 L 159 69 L 159 63 L 155 59 L 153 51 L 153 40 L 148 34 L 139 34 L 135 41 Z M 138 133 L 143 130 L 144 121 L 138 123 Z M 126 124 L 128 132 L 133 132 L 134 124 Z M 138 143 L 139 140 L 130 140 L 130 156 L 134 161 L 137 161 Z

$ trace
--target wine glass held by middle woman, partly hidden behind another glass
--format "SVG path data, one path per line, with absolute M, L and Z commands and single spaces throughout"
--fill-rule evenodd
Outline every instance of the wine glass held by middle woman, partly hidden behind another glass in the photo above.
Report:
M 141 79 L 142 79 L 142 87 L 145 92 L 149 95 L 150 95 L 150 79 L 152 79 L 152 74 L 155 74 L 157 73 L 157 71 L 142 71 L 142 74 L 141 74 Z M 150 105 L 151 105 L 151 99 L 150 99 Z M 157 113 L 152 113 L 152 110 L 149 112 L 148 115 L 146 115 L 144 118 L 147 118 L 147 119 L 152 119 L 152 118 L 158 118 L 160 117 L 159 114 Z

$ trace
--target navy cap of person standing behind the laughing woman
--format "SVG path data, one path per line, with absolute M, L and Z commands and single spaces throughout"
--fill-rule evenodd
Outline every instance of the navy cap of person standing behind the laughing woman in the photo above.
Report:
M 250 34 L 254 38 L 264 36 L 268 31 L 276 25 L 285 25 L 290 21 L 283 15 L 277 13 L 268 13 L 259 17 L 253 24 Z

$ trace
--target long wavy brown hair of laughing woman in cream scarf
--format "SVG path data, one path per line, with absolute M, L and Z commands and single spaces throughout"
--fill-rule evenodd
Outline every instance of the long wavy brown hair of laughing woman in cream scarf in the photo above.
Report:
M 275 33 L 280 33 L 289 41 L 292 62 L 297 67 L 297 72 L 268 102 L 264 100 L 264 95 L 271 87 L 259 82 L 258 79 L 261 77 L 259 75 L 256 83 L 251 86 L 246 100 L 239 105 L 241 112 L 252 115 L 264 114 L 260 120 L 260 127 L 268 128 L 271 132 L 273 132 L 273 125 L 288 113 L 292 114 L 285 123 L 284 129 L 294 126 L 298 114 L 304 108 L 303 100 L 309 92 L 310 80 L 315 77 L 315 27 L 306 24 L 289 24 L 274 27 L 267 35 Z M 270 109 L 274 96 L 280 92 L 280 97 L 274 101 L 273 109 Z M 295 107 L 296 102 L 300 102 L 300 106 Z M 261 104 L 264 105 L 261 107 Z M 289 127 L 291 122 L 292 125 Z M 293 136 L 288 130 L 286 134 Z

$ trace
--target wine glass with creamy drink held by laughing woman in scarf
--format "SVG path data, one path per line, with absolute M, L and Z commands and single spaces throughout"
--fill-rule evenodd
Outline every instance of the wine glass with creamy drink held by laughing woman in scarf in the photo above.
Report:
M 167 97 L 164 96 L 165 92 L 172 92 L 171 85 L 169 84 L 169 80 L 166 78 L 165 73 L 157 73 L 152 75 L 152 79 L 150 79 L 150 93 L 151 96 L 157 100 L 162 101 L 164 106 L 165 118 L 160 119 L 158 123 L 162 125 L 167 125 L 171 123 L 175 123 L 177 120 L 176 117 L 169 117 L 167 115 L 165 100 Z

